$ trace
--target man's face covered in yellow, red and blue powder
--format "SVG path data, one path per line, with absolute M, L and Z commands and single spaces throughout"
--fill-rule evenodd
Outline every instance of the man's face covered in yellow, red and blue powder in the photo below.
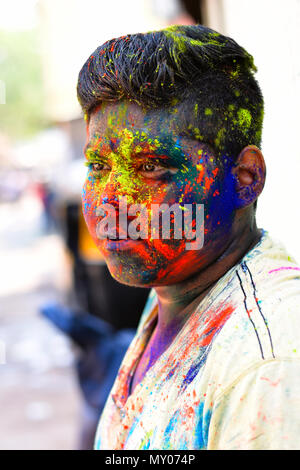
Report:
M 231 168 L 184 131 L 176 110 L 146 111 L 129 101 L 102 104 L 91 115 L 83 212 L 111 274 L 120 282 L 147 287 L 181 282 L 215 261 L 230 241 L 235 213 Z M 134 204 L 147 209 L 147 237 L 120 239 L 117 219 L 117 239 L 99 238 L 99 209 L 110 204 L 118 216 L 124 198 L 128 213 Z M 185 232 L 175 238 L 174 218 L 168 238 L 151 235 L 153 207 L 162 204 L 176 204 L 183 212 L 187 204 L 204 205 L 202 248 L 187 249 Z M 193 214 L 190 228 L 195 229 Z M 145 213 L 140 221 L 143 217 Z M 128 224 L 133 219 L 129 216 Z

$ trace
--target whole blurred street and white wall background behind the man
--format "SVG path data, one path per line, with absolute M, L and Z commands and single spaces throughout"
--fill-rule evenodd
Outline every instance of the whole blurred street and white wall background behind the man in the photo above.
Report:
M 112 37 L 194 23 L 255 58 L 258 223 L 300 262 L 300 0 L 0 0 L 2 450 L 91 448 L 148 295 L 110 278 L 86 232 L 78 72 Z

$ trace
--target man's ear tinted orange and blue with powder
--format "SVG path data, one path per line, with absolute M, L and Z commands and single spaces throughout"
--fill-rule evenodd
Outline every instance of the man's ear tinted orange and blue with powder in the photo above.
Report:
M 236 179 L 236 206 L 253 204 L 263 190 L 266 165 L 263 154 L 255 145 L 248 145 L 239 154 L 232 170 Z

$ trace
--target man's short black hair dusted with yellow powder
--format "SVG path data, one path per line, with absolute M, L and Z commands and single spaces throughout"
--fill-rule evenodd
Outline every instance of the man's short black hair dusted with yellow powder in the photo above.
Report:
M 253 57 L 233 39 L 202 25 L 171 26 L 105 42 L 83 65 L 77 92 L 87 120 L 108 101 L 171 107 L 189 135 L 235 160 L 245 146 L 261 145 L 254 72 Z

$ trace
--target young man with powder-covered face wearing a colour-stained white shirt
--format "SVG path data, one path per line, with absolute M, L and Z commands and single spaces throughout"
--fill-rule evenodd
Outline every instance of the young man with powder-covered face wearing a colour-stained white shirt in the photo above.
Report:
M 153 288 L 96 449 L 300 448 L 300 268 L 255 222 L 254 71 L 232 39 L 175 26 L 79 74 L 86 223 L 115 279 Z

